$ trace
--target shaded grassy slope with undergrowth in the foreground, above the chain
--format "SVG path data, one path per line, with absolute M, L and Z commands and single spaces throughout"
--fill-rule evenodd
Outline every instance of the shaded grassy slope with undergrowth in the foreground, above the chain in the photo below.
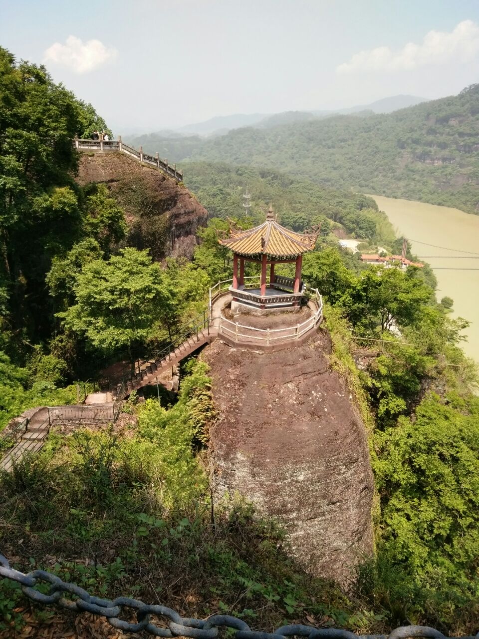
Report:
M 19 569 L 46 567 L 98 596 L 161 602 L 186 616 L 229 613 L 270 630 L 311 619 L 384 627 L 384 615 L 298 566 L 280 528 L 250 506 L 212 508 L 198 481 L 189 494 L 177 486 L 173 502 L 161 460 L 160 445 L 138 438 L 54 437 L 0 477 L 3 552 Z M 20 624 L 11 611 L 21 591 L 2 580 L 2 598 L 4 626 Z

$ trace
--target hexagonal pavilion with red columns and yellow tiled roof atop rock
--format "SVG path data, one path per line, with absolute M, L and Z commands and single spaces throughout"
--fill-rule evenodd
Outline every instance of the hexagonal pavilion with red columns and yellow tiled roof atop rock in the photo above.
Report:
M 285 229 L 276 221 L 272 206 L 266 221 L 253 229 L 243 231 L 231 226 L 229 236 L 218 238 L 218 242 L 233 252 L 232 309 L 245 311 L 254 307 L 270 311 L 299 306 L 304 291 L 303 254 L 314 249 L 318 234 L 319 229 L 303 234 Z M 248 278 L 254 282 L 245 284 L 245 260 L 261 264 L 259 287 L 257 278 Z M 296 264 L 294 278 L 275 275 L 275 265 L 293 262 Z

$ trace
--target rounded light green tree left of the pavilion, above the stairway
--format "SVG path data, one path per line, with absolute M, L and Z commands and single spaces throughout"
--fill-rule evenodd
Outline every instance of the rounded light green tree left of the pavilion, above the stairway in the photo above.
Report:
M 148 250 L 122 249 L 109 261 L 87 262 L 75 277 L 76 304 L 58 316 L 95 348 L 126 348 L 151 336 L 158 316 L 170 311 L 172 291 Z

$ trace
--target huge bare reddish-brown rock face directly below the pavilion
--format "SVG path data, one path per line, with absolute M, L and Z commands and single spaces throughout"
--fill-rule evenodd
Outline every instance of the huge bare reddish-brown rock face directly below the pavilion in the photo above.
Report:
M 347 585 L 372 552 L 374 481 L 365 427 L 330 352 L 320 330 L 275 353 L 218 339 L 202 357 L 220 412 L 210 434 L 215 491 L 277 518 L 310 572 Z

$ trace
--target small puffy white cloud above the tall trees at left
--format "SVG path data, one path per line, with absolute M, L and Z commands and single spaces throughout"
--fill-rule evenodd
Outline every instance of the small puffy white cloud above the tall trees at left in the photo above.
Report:
M 80 38 L 68 36 L 65 44 L 55 42 L 45 51 L 43 62 L 66 66 L 75 73 L 88 73 L 116 58 L 117 54 L 116 49 L 105 47 L 100 40 L 82 42 Z

